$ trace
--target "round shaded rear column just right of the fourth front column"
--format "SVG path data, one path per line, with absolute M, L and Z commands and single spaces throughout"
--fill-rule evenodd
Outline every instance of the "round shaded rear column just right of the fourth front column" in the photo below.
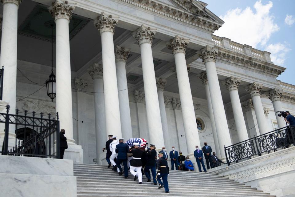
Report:
M 161 113 L 161 123 L 163 129 L 164 143 L 167 146 L 167 142 L 169 141 L 169 130 L 167 123 L 167 115 L 166 115 L 166 107 L 164 100 L 164 88 L 166 86 L 167 80 L 162 78 L 156 78 L 157 90 L 158 90 L 158 99 Z

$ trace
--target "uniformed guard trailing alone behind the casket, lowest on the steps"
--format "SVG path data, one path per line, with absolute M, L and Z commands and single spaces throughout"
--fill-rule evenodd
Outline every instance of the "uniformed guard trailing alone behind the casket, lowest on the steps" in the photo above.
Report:
M 165 193 L 169 192 L 169 186 L 168 186 L 168 175 L 169 175 L 169 167 L 168 162 L 166 159 L 163 158 L 163 151 L 159 151 L 159 159 L 157 160 L 158 165 L 158 174 L 157 174 L 157 181 L 160 185 L 158 189 L 161 189 L 162 187 L 165 188 Z M 161 178 L 163 179 L 163 183 L 161 181 Z

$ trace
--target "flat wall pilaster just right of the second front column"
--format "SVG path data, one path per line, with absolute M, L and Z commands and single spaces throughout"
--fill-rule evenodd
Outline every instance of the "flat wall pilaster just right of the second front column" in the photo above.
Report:
M 89 163 L 88 157 L 88 131 L 86 127 L 87 119 L 87 106 L 86 106 L 86 92 L 85 88 L 89 85 L 89 82 L 85 79 L 75 78 L 74 81 L 77 90 L 77 120 L 78 122 L 78 139 L 77 144 L 80 144 L 83 149 L 83 161 L 84 163 Z M 83 123 L 81 122 L 83 120 Z

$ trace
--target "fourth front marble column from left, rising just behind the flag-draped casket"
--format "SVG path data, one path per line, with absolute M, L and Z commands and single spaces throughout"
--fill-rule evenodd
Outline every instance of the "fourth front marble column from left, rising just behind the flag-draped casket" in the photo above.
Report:
M 164 137 L 151 50 L 151 44 L 155 38 L 155 31 L 151 30 L 150 27 L 142 25 L 134 33 L 134 38 L 140 46 L 150 143 L 154 144 L 156 149 L 161 149 L 164 146 Z

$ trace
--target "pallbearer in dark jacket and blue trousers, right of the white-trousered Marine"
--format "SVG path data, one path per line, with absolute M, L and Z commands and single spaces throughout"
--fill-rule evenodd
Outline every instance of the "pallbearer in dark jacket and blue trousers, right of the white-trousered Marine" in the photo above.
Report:
M 155 149 L 156 149 L 155 145 L 150 144 L 150 150 L 148 150 L 148 152 L 146 153 L 147 161 L 144 167 L 144 174 L 148 179 L 147 182 L 151 182 L 151 174 L 152 174 L 154 185 L 157 185 L 156 164 L 155 164 L 155 159 L 157 158 L 157 151 L 155 151 Z M 151 173 L 150 173 L 150 169 L 151 169 Z

